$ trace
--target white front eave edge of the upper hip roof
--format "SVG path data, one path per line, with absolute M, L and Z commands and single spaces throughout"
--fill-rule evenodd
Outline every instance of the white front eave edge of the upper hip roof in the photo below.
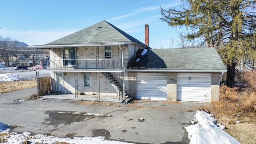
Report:
M 70 48 L 70 47 L 85 47 L 85 46 L 115 46 L 131 44 L 132 42 L 99 42 L 99 43 L 83 43 L 83 44 L 60 44 L 60 45 L 38 45 L 38 46 L 28 46 L 28 48 Z

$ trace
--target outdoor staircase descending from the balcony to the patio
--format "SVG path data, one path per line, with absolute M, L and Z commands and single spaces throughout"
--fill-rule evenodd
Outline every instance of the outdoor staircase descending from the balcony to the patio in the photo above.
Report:
M 126 93 L 126 91 L 123 93 L 124 88 L 122 87 L 122 84 L 116 80 L 116 78 L 111 74 L 111 72 L 102 72 L 102 74 L 105 76 L 105 78 L 110 82 L 110 84 L 113 86 L 113 88 L 118 92 L 124 100 L 123 103 L 130 103 L 132 102 L 133 98 L 129 97 L 129 95 Z

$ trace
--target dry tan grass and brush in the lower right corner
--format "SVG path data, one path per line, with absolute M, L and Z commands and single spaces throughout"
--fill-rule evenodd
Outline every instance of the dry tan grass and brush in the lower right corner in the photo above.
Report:
M 220 87 L 220 100 L 205 107 L 226 126 L 226 132 L 242 144 L 256 144 L 256 93 L 248 89 Z

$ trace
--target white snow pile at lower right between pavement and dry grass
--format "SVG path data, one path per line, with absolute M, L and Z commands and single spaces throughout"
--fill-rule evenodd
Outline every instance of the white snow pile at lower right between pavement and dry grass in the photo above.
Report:
M 185 127 L 190 144 L 240 144 L 238 140 L 222 130 L 225 127 L 217 124 L 212 114 L 197 111 L 194 121 L 198 123 Z

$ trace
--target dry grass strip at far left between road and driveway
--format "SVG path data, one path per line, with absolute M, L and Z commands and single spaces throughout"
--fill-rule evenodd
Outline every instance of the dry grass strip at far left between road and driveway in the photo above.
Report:
M 37 81 L 33 80 L 18 80 L 12 82 L 0 82 L 0 93 L 12 92 L 37 86 Z

